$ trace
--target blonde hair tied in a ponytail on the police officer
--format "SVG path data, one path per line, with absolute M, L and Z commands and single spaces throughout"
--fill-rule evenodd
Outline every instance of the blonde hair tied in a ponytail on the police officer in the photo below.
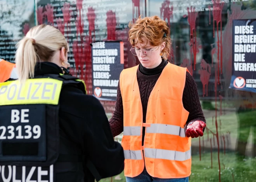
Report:
M 22 83 L 34 77 L 37 62 L 50 62 L 55 51 L 62 47 L 66 51 L 69 49 L 63 34 L 55 27 L 45 24 L 32 27 L 16 46 L 15 62 Z

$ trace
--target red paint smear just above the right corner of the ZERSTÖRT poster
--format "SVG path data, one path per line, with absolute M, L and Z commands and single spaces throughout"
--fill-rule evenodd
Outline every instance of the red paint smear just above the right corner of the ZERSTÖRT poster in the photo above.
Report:
M 116 14 L 109 10 L 107 12 L 107 40 L 116 40 Z

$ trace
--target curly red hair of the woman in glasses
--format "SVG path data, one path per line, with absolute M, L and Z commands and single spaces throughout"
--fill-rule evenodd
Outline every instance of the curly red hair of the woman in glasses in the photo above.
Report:
M 152 46 L 159 46 L 165 42 L 165 48 L 163 49 L 163 58 L 168 59 L 171 52 L 171 37 L 170 29 L 167 23 L 162 20 L 159 16 L 145 17 L 141 16 L 136 22 L 129 24 L 129 41 L 132 46 L 135 46 L 137 42 L 144 43 L 142 38 L 145 37 Z M 137 38 L 138 41 L 135 42 Z

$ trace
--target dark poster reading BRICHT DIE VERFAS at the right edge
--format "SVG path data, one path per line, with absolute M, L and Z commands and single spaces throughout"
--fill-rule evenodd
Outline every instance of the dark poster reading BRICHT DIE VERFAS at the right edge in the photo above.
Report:
M 256 92 L 256 19 L 233 20 L 230 87 Z

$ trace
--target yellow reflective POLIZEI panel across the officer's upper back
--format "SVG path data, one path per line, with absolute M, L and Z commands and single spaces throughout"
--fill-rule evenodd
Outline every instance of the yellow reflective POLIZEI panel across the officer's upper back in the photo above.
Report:
M 0 105 L 59 103 L 62 81 L 52 78 L 19 80 L 0 83 Z

